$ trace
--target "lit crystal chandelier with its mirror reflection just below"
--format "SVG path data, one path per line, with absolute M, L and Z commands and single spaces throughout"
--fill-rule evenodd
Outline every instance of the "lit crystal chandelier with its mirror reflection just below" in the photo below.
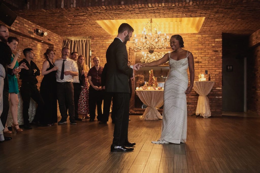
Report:
M 169 45 L 169 36 L 161 35 L 161 31 L 156 23 L 153 23 L 152 19 L 150 19 L 147 23 L 144 24 L 144 30 L 142 31 L 142 36 L 140 40 L 136 38 L 136 34 L 134 35 L 134 39 L 132 41 L 134 51 L 148 51 L 149 53 L 142 54 L 142 62 L 148 63 L 154 60 L 160 59 L 162 56 L 159 52 L 154 52 L 154 50 L 162 50 L 166 49 Z

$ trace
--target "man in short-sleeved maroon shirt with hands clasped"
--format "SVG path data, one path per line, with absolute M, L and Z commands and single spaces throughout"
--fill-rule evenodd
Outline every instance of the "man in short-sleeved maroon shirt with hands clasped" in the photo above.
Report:
M 102 117 L 102 101 L 103 101 L 103 91 L 101 85 L 101 74 L 103 67 L 99 65 L 99 57 L 93 58 L 94 67 L 90 68 L 88 71 L 88 82 L 89 86 L 89 121 L 94 121 L 95 119 L 95 109 L 97 105 L 97 120 L 100 121 Z

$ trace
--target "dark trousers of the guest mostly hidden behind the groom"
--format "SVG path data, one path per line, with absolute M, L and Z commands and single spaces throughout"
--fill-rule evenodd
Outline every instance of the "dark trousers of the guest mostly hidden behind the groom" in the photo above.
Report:
M 113 93 L 111 93 L 111 92 L 104 92 L 102 121 L 108 121 L 112 97 L 113 97 Z M 113 104 L 114 104 L 114 98 L 113 98 Z M 112 122 L 115 121 L 114 106 L 112 107 L 111 119 L 112 119 Z

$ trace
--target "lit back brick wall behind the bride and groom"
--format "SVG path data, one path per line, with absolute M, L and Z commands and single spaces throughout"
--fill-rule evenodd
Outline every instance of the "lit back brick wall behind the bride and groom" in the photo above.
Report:
M 170 35 L 169 35 L 170 36 Z M 196 34 L 181 34 L 184 39 L 184 49 L 193 53 L 195 62 L 195 80 L 198 74 L 209 70 L 211 80 L 216 81 L 208 95 L 213 116 L 222 115 L 222 34 L 220 32 L 205 32 Z M 92 58 L 99 56 L 103 66 L 106 63 L 106 50 L 116 36 L 103 35 L 92 37 Z M 129 50 L 131 43 L 127 43 Z M 188 114 L 196 112 L 198 94 L 192 91 L 187 96 Z

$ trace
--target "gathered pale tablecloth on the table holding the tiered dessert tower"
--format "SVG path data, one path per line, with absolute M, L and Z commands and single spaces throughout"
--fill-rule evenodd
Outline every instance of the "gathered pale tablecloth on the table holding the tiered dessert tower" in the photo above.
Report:
M 140 118 L 145 120 L 162 119 L 157 109 L 163 105 L 163 91 L 161 90 L 135 90 L 140 100 L 147 105 L 145 112 Z

